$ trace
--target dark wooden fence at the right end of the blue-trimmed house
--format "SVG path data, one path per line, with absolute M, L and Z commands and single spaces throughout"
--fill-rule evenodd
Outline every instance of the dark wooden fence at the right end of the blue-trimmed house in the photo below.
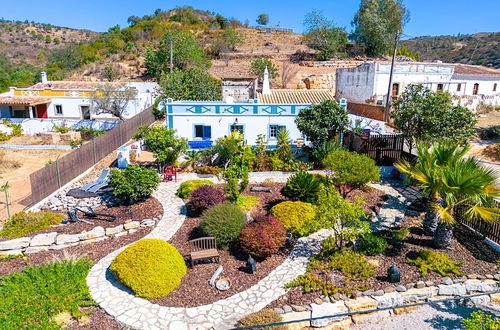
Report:
M 380 166 L 391 166 L 401 159 L 415 159 L 414 155 L 404 151 L 404 143 L 404 137 L 396 134 L 360 136 L 350 133 L 344 136 L 344 146 L 370 157 Z

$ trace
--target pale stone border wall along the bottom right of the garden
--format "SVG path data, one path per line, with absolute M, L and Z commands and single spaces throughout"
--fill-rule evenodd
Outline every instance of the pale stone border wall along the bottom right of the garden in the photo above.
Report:
M 319 320 L 307 320 L 292 323 L 290 329 L 301 329 L 303 327 L 314 327 L 318 329 L 348 329 L 353 323 L 356 325 L 368 325 L 373 323 L 381 323 L 387 317 L 394 314 L 401 314 L 414 309 L 418 306 L 394 308 L 407 304 L 418 302 L 441 300 L 450 297 L 466 296 L 474 293 L 490 293 L 489 295 L 464 298 L 466 301 L 473 304 L 485 304 L 494 302 L 500 303 L 500 273 L 495 275 L 495 279 L 456 279 L 452 281 L 450 278 L 443 278 L 442 284 L 434 285 L 430 282 L 429 286 L 412 287 L 405 289 L 403 292 L 382 291 L 361 296 L 355 299 L 334 299 L 333 297 L 323 296 L 315 299 L 314 303 L 305 306 L 288 306 L 275 309 L 282 314 L 283 321 L 296 321 L 308 318 L 330 316 L 329 318 Z M 422 282 L 423 283 L 423 282 Z M 367 291 L 368 292 L 368 291 Z M 368 310 L 384 309 L 366 314 L 358 314 L 352 316 L 334 316 L 335 314 L 353 313 Z

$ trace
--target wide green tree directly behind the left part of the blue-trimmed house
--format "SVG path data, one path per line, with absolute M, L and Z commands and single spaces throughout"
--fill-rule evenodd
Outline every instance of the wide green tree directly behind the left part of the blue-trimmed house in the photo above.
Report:
M 221 82 L 198 68 L 174 70 L 160 77 L 160 96 L 163 99 L 217 101 L 222 100 Z

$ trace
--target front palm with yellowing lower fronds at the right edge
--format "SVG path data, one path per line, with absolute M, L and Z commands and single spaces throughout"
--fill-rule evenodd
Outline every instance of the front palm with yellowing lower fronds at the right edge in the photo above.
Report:
M 439 223 L 434 233 L 434 245 L 447 248 L 453 238 L 457 210 L 466 218 L 498 221 L 500 212 L 495 198 L 500 196 L 496 187 L 497 173 L 481 166 L 475 157 L 451 161 L 442 172 L 438 194 L 442 203 L 434 204 Z

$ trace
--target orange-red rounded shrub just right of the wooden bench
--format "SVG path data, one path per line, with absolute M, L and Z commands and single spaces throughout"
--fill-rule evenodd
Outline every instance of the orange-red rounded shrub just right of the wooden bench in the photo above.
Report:
M 243 228 L 238 241 L 241 251 L 265 259 L 285 245 L 286 230 L 273 216 L 259 215 Z

